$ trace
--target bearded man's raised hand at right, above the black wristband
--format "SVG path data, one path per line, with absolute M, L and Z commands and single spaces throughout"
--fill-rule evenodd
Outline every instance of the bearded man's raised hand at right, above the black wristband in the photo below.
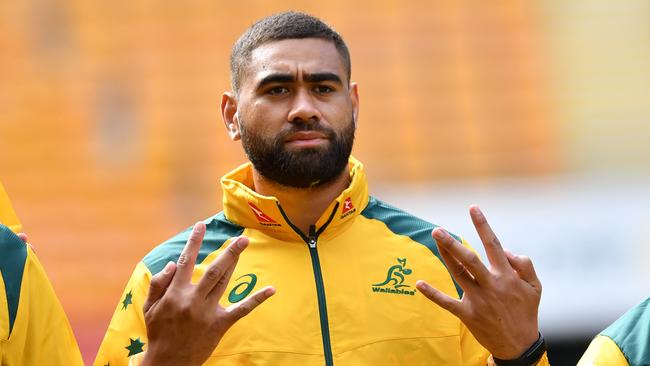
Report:
M 463 288 L 463 297 L 460 300 L 449 297 L 422 280 L 416 287 L 457 316 L 494 357 L 515 359 L 538 339 L 537 310 L 542 284 L 530 258 L 501 247 L 477 206 L 470 207 L 470 216 L 485 247 L 490 268 L 445 230 L 436 228 L 433 238 L 449 272 Z

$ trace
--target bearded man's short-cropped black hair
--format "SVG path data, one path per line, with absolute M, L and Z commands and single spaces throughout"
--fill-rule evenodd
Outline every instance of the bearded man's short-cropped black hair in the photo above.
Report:
M 319 38 L 333 42 L 343 59 L 348 82 L 350 81 L 352 74 L 350 51 L 343 37 L 316 17 L 287 11 L 258 20 L 235 42 L 230 54 L 230 80 L 233 90 L 239 92 L 242 75 L 254 49 L 267 42 L 302 38 Z

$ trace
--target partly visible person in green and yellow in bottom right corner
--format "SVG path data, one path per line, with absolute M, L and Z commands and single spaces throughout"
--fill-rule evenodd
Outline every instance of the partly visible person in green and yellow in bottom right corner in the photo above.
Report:
M 579 366 L 650 365 L 650 298 L 596 336 Z

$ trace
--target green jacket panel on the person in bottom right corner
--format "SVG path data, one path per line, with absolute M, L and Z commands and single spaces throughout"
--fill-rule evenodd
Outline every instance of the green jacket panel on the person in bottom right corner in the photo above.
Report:
M 630 366 L 650 365 L 650 298 L 623 314 L 601 334 L 616 343 Z

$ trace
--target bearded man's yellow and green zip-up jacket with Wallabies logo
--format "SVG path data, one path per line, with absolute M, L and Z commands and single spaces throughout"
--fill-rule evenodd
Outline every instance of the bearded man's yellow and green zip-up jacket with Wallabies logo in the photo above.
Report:
M 276 198 L 250 188 L 250 164 L 222 178 L 224 211 L 205 220 L 193 280 L 231 238 L 246 235 L 249 247 L 222 305 L 267 285 L 277 293 L 226 333 L 206 365 L 487 364 L 489 353 L 467 328 L 415 289 L 426 279 L 451 296 L 462 293 L 431 238 L 434 225 L 369 197 L 354 159 L 350 176 L 309 233 L 293 226 Z M 95 365 L 137 364 L 146 351 L 142 306 L 151 276 L 178 259 L 190 232 L 137 265 Z

